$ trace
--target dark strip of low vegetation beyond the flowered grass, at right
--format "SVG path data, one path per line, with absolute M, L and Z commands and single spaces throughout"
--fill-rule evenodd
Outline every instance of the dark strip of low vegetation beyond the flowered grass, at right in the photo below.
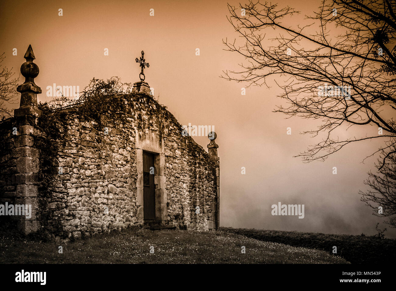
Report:
M 265 242 L 287 243 L 296 247 L 324 250 L 332 254 L 333 246 L 337 255 L 352 264 L 386 264 L 396 261 L 396 240 L 380 239 L 377 236 L 353 236 L 346 234 L 322 234 L 280 230 L 259 230 L 247 228 L 221 228 L 234 234 Z

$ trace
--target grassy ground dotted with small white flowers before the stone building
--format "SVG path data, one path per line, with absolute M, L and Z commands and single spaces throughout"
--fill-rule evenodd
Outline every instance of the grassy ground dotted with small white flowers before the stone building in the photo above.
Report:
M 59 246 L 63 253 L 59 253 Z M 150 247 L 154 253 L 150 253 Z M 241 253 L 241 247 L 246 253 Z M 263 242 L 231 232 L 129 228 L 56 245 L 0 236 L 1 263 L 346 263 L 325 251 Z

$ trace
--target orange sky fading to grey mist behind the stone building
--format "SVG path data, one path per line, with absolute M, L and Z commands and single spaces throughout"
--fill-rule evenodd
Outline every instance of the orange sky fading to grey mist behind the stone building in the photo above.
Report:
M 285 0 L 279 5 L 310 14 L 320 2 Z M 35 83 L 43 92 L 38 101 L 44 102 L 52 98 L 46 96 L 46 87 L 54 83 L 82 90 L 93 77 L 139 81 L 135 58 L 143 50 L 150 64 L 145 81 L 154 88 L 156 99 L 181 124 L 214 126 L 221 226 L 372 235 L 381 223 L 380 228 L 388 229 L 385 235 L 396 238 L 395 230 L 372 215 L 358 194 L 367 189 L 366 173 L 375 170 L 377 157 L 364 158 L 379 143 L 352 144 L 325 162 L 306 164 L 294 158 L 318 142 L 300 132 L 316 128 L 320 121 L 285 119 L 273 112 L 284 104 L 274 82 L 270 88 L 249 87 L 241 95 L 247 84 L 220 77 L 223 70 L 238 70 L 244 61 L 225 50 L 223 39 L 237 37 L 227 15 L 227 1 L 5 0 L 0 4 L 0 53 L 6 56 L 3 64 L 19 73 L 23 55 L 32 45 L 40 68 Z M 291 135 L 286 134 L 287 127 Z M 375 129 L 360 129 L 357 134 L 364 130 Z M 207 137 L 194 139 L 207 149 Z M 272 215 L 271 205 L 278 202 L 304 204 L 304 218 Z

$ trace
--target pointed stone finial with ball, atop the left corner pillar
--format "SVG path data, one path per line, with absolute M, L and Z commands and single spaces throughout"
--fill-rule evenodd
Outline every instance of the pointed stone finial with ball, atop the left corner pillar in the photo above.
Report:
M 19 108 L 14 110 L 14 116 L 32 115 L 41 116 L 41 110 L 37 105 L 37 94 L 41 93 L 41 88 L 34 84 L 34 78 L 38 76 L 38 65 L 33 63 L 34 57 L 32 46 L 29 45 L 24 58 L 26 62 L 21 65 L 21 74 L 25 77 L 25 82 L 17 87 L 21 93 Z

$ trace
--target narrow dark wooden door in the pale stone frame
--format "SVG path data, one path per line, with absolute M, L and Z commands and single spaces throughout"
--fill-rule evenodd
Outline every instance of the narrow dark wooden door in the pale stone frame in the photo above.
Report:
M 145 220 L 155 220 L 154 155 L 143 152 L 143 209 Z

